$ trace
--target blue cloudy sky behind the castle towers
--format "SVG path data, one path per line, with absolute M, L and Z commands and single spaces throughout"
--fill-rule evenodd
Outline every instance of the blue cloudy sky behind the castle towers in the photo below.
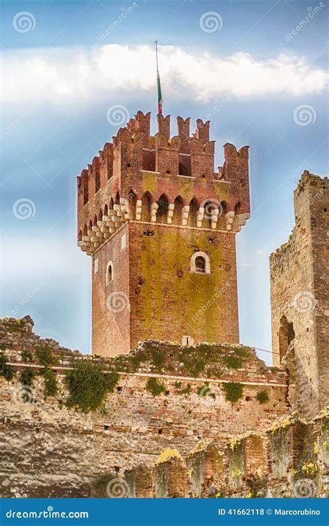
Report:
M 151 110 L 155 131 L 157 38 L 172 135 L 177 115 L 193 126 L 212 113 L 216 166 L 225 142 L 250 145 L 252 216 L 237 236 L 240 340 L 270 350 L 269 254 L 292 229 L 303 170 L 328 173 L 325 3 L 45 0 L 3 2 L 1 11 L 1 315 L 29 313 L 37 333 L 90 352 L 76 175 L 116 132 L 110 106 Z

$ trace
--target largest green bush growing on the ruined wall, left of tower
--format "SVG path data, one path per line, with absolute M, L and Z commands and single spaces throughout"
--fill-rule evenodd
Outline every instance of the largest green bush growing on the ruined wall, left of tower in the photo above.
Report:
M 81 360 L 74 369 L 66 373 L 66 384 L 69 389 L 67 406 L 79 409 L 83 413 L 99 409 L 106 394 L 112 392 L 119 381 L 117 372 L 104 374 L 100 365 Z

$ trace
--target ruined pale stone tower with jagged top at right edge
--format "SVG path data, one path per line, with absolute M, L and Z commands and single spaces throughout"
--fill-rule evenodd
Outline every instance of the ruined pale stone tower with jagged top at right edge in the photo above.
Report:
M 329 403 L 328 209 L 328 179 L 305 171 L 294 191 L 292 235 L 270 257 L 273 365 L 285 357 L 306 418 Z

